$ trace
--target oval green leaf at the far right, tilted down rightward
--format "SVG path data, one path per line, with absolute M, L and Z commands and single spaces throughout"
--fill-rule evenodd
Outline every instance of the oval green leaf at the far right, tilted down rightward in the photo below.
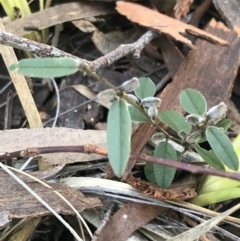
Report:
M 239 161 L 228 137 L 215 126 L 206 130 L 207 140 L 216 156 L 230 169 L 237 171 Z

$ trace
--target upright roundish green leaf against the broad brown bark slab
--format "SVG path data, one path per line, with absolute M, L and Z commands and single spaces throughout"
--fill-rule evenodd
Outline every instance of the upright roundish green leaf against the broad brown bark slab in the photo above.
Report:
M 207 102 L 204 96 L 194 89 L 185 89 L 181 92 L 180 104 L 190 114 L 204 115 L 207 110 Z

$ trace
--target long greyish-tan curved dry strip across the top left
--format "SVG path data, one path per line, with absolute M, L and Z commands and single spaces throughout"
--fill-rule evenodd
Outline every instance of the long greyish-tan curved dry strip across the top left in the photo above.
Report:
M 67 14 L 66 14 L 67 13 Z M 48 28 L 60 23 L 114 13 L 114 9 L 107 3 L 72 2 L 59 4 L 43 11 L 32 13 L 24 18 L 17 19 L 5 26 L 6 31 L 22 36 L 29 31 L 24 27 L 33 26 L 38 29 Z

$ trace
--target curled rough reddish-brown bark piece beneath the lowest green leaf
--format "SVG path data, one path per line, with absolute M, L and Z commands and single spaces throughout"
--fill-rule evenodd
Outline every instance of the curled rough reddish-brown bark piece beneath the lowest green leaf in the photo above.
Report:
M 132 175 L 128 176 L 126 182 L 145 195 L 160 200 L 187 200 L 197 196 L 195 191 L 197 181 L 193 176 L 172 183 L 168 188 L 160 188 L 158 185 L 135 178 Z

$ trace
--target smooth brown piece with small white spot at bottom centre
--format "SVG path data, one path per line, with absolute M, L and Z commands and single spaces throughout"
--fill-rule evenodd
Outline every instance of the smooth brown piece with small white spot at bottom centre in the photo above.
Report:
M 116 212 L 102 229 L 97 241 L 125 241 L 138 228 L 142 227 L 168 209 L 141 203 L 127 203 Z

